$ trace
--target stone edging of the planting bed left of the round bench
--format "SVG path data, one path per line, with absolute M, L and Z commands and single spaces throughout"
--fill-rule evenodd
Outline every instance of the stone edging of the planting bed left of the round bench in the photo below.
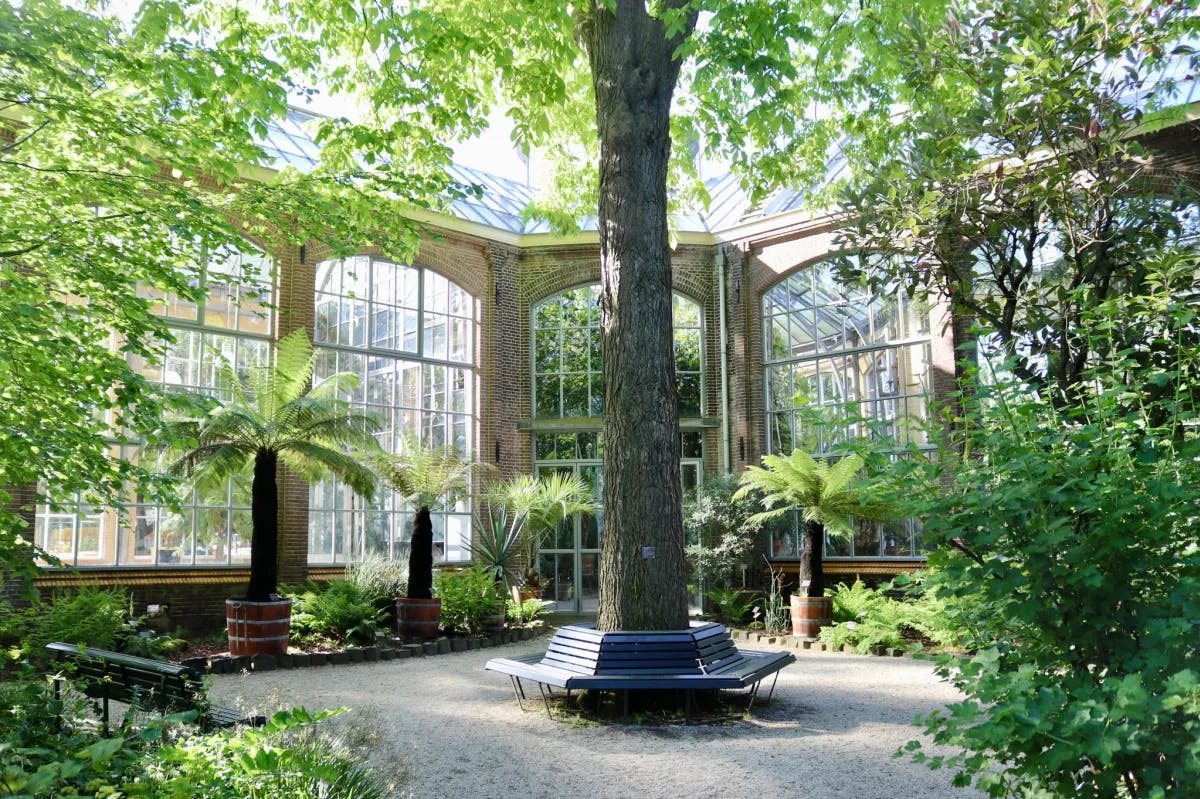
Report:
M 182 666 L 200 668 L 212 674 L 238 674 L 274 672 L 277 669 L 312 668 L 326 665 L 376 663 L 379 661 L 425 657 L 450 653 L 488 649 L 509 643 L 529 641 L 550 627 L 517 627 L 498 630 L 484 636 L 440 637 L 432 641 L 408 642 L 403 638 L 385 638 L 374 647 L 347 647 L 334 651 L 288 653 L 286 655 L 185 657 Z

